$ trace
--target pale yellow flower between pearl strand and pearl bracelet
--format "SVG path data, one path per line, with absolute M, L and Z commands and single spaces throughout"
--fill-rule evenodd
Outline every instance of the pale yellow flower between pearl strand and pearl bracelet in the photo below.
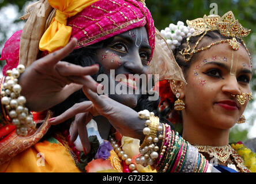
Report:
M 129 158 L 133 158 L 133 156 L 140 154 L 140 140 L 123 136 L 121 144 L 123 152 L 125 152 Z

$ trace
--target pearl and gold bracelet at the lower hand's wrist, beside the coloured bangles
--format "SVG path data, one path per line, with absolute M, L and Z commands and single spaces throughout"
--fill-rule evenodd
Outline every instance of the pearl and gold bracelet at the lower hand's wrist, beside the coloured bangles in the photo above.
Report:
M 159 124 L 159 118 L 148 110 L 139 112 L 138 116 L 141 119 L 146 119 L 145 128 L 143 129 L 145 139 L 140 147 L 141 156 L 135 161 L 137 164 L 141 164 L 144 167 L 148 165 L 153 166 L 159 156 L 159 147 L 157 146 L 157 143 L 159 142 L 159 139 L 163 139 L 161 133 L 159 137 L 157 137 L 157 131 L 162 132 L 163 127 Z

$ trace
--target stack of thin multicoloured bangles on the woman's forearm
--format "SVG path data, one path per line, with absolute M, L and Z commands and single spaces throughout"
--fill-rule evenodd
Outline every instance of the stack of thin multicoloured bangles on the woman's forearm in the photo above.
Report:
M 198 149 L 179 136 L 178 132 L 172 131 L 170 125 L 163 124 L 163 127 L 165 136 L 156 161 L 156 170 L 163 173 L 206 172 L 208 160 L 199 154 Z

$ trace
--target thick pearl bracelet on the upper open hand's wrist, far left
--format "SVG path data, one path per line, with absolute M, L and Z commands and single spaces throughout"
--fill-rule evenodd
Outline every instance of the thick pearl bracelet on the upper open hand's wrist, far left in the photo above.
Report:
M 22 64 L 13 70 L 8 70 L 1 90 L 1 104 L 5 106 L 6 116 L 13 125 L 16 125 L 16 133 L 21 136 L 26 136 L 28 129 L 36 127 L 32 113 L 25 107 L 26 98 L 20 95 L 21 86 L 18 85 L 18 77 L 24 71 L 25 67 Z

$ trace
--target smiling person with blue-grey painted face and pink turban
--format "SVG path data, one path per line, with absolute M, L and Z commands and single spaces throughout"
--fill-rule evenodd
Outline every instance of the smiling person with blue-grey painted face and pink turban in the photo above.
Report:
M 45 16 L 38 14 L 42 7 Z M 96 93 L 103 87 L 95 82 L 100 74 L 114 86 L 134 90 L 127 75 L 149 73 L 155 26 L 145 3 L 41 0 L 22 18 L 28 18 L 24 29 L 7 40 L 1 57 L 7 65 L 1 79 L 0 171 L 137 171 L 131 155 L 138 155 L 138 149 L 131 149 L 136 151 L 129 158 L 128 153 L 116 154 L 107 141 L 115 133 L 107 118 L 78 114 L 52 127 L 50 118 L 74 104 L 79 109 L 79 102 L 92 107 L 81 88 Z M 127 82 L 111 78 L 111 70 Z M 149 94 L 138 92 L 109 97 L 137 111 L 157 107 L 156 101 L 148 101 Z M 140 143 L 129 137 L 121 140 L 120 133 L 115 136 L 126 149 Z

